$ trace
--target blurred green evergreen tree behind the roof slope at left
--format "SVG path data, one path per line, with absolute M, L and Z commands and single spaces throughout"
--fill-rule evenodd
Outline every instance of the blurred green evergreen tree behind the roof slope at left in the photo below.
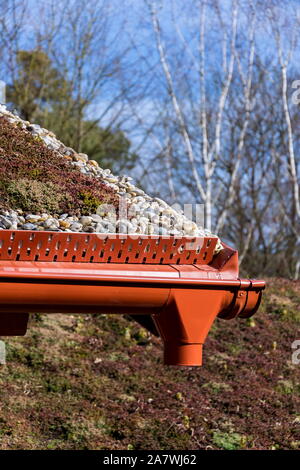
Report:
M 23 119 L 53 131 L 66 145 L 87 153 L 104 168 L 128 170 L 137 160 L 120 129 L 101 128 L 96 121 L 85 119 L 84 112 L 78 123 L 78 109 L 84 110 L 90 103 L 76 102 L 72 83 L 40 49 L 18 51 L 17 76 L 8 86 L 7 100 Z

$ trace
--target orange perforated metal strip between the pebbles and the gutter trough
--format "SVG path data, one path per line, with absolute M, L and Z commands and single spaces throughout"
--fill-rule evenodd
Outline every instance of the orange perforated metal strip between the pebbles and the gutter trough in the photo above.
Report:
M 216 237 L 0 230 L 0 260 L 82 263 L 208 264 Z

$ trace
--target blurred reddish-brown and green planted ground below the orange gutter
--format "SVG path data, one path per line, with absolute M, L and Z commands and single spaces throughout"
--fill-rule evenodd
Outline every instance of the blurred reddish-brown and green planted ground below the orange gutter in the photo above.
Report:
M 32 318 L 6 338 L 1 449 L 299 449 L 300 284 L 270 279 L 248 321 L 217 320 L 202 368 L 120 316 Z

